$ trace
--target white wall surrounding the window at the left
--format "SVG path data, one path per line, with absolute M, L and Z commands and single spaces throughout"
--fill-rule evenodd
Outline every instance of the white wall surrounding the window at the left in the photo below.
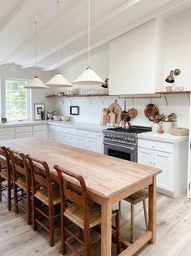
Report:
M 11 70 L 11 65 L 6 64 L 0 66 L 0 78 L 1 78 L 1 116 L 5 115 L 5 80 L 7 78 L 15 79 L 26 79 L 31 80 L 36 75 L 35 68 L 21 69 L 19 66 L 15 66 L 14 70 Z M 40 72 L 38 70 L 38 76 L 41 80 L 47 82 L 54 72 Z M 45 95 L 53 93 L 52 89 L 32 89 L 31 99 L 32 99 L 32 109 L 31 115 L 34 119 L 34 103 L 45 103 L 45 110 L 49 107 L 55 107 L 55 101 L 51 98 L 45 98 Z

